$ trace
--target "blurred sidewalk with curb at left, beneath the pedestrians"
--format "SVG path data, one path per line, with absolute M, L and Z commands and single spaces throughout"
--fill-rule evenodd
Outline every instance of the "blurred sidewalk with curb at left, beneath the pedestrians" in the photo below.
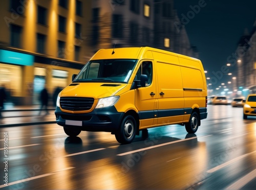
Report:
M 40 115 L 39 107 L 39 105 L 6 105 L 5 109 L 2 110 L 3 117 L 0 118 L 0 128 L 56 123 L 54 114 L 55 107 L 48 107 L 48 114 L 46 114 L 46 110 L 42 110 Z

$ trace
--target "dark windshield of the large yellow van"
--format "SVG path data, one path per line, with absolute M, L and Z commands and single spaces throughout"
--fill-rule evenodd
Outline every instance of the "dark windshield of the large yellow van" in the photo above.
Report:
M 137 59 L 91 60 L 83 66 L 73 82 L 127 83 Z

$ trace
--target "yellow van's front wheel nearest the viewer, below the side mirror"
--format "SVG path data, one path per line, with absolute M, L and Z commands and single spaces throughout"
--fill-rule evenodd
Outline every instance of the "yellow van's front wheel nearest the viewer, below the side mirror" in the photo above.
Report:
M 136 130 L 137 124 L 135 118 L 132 115 L 126 115 L 115 134 L 116 140 L 120 144 L 130 144 L 135 138 Z

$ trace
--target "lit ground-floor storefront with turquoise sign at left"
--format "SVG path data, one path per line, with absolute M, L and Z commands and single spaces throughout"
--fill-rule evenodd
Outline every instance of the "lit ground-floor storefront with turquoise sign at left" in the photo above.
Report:
M 39 104 L 39 93 L 44 88 L 50 95 L 49 104 L 54 104 L 54 91 L 71 83 L 72 75 L 77 74 L 83 65 L 0 50 L 0 85 L 8 92 L 8 102 L 15 105 Z

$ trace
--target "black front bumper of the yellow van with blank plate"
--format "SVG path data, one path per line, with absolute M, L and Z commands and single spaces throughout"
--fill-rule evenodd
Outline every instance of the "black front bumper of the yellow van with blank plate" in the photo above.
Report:
M 56 107 L 56 123 L 60 126 L 82 131 L 115 132 L 124 113 L 118 112 L 114 106 L 94 109 L 90 113 L 67 113 Z

